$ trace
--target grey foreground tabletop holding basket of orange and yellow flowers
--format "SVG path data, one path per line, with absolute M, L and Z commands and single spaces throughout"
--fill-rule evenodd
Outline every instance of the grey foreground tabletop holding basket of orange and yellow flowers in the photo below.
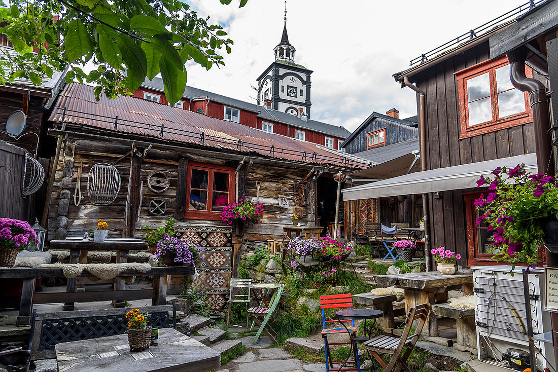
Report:
M 209 371 L 221 366 L 221 354 L 172 328 L 159 330 L 157 346 L 131 352 L 128 335 L 62 342 L 56 345 L 59 372 Z

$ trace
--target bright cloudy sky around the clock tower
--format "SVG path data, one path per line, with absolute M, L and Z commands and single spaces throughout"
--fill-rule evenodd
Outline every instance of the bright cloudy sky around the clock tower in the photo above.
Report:
M 281 40 L 284 0 L 187 0 L 234 41 L 225 66 L 189 62 L 187 85 L 256 103 L 256 78 Z M 478 27 L 526 0 L 287 0 L 295 62 L 311 75 L 311 118 L 353 131 L 373 111 L 416 115 L 416 95 L 392 75 L 412 58 Z

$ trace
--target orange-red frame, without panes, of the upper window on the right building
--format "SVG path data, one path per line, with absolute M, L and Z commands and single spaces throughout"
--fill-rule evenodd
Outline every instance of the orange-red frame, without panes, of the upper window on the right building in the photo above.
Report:
M 527 93 L 524 93 L 526 107 L 526 110 L 524 112 L 508 115 L 503 118 L 498 118 L 498 88 L 496 86 L 496 69 L 508 64 L 509 62 L 506 56 L 504 56 L 494 61 L 486 60 L 484 62 L 480 62 L 479 64 L 467 67 L 466 69 L 454 73 L 455 78 L 457 79 L 459 95 L 459 138 L 478 136 L 479 134 L 498 131 L 502 128 L 515 127 L 516 125 L 522 125 L 533 121 L 533 114 L 531 111 L 531 106 L 529 104 L 529 95 Z M 489 73 L 490 106 L 492 107 L 492 120 L 469 126 L 469 100 L 467 96 L 467 80 L 485 73 Z M 525 67 L 525 74 L 528 78 L 533 77 L 533 71 L 529 67 Z

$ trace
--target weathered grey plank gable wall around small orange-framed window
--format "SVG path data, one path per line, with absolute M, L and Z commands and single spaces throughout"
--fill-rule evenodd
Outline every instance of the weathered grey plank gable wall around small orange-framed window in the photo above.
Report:
M 349 143 L 345 144 L 345 149 L 350 154 L 366 151 L 368 149 L 368 133 L 376 132 L 383 128 L 386 128 L 386 145 L 384 146 L 419 137 L 419 129 L 415 127 L 409 127 L 405 124 L 395 123 L 392 120 L 377 117 L 373 118 L 373 120 L 365 125 L 357 136 L 355 136 Z

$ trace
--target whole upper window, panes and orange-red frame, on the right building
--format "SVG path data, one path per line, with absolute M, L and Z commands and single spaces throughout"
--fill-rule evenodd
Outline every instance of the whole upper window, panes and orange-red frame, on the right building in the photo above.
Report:
M 526 67 L 525 74 L 532 77 Z M 460 138 L 532 122 L 528 94 L 509 79 L 506 57 L 455 73 L 459 93 Z

